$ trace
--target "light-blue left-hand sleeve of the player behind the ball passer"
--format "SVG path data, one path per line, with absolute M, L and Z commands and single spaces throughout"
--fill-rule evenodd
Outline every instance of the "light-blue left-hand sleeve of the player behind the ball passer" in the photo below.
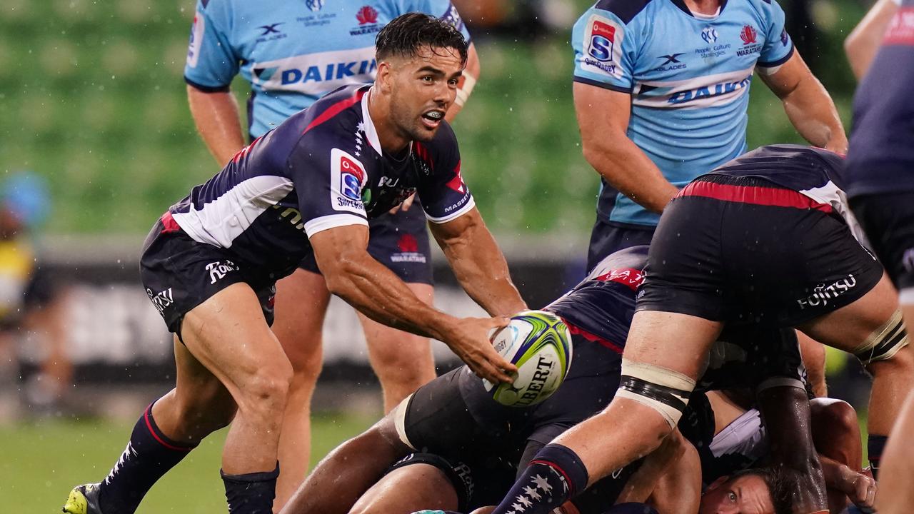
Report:
M 187 44 L 185 81 L 202 91 L 223 91 L 239 71 L 239 58 L 229 41 L 228 0 L 197 0 Z

